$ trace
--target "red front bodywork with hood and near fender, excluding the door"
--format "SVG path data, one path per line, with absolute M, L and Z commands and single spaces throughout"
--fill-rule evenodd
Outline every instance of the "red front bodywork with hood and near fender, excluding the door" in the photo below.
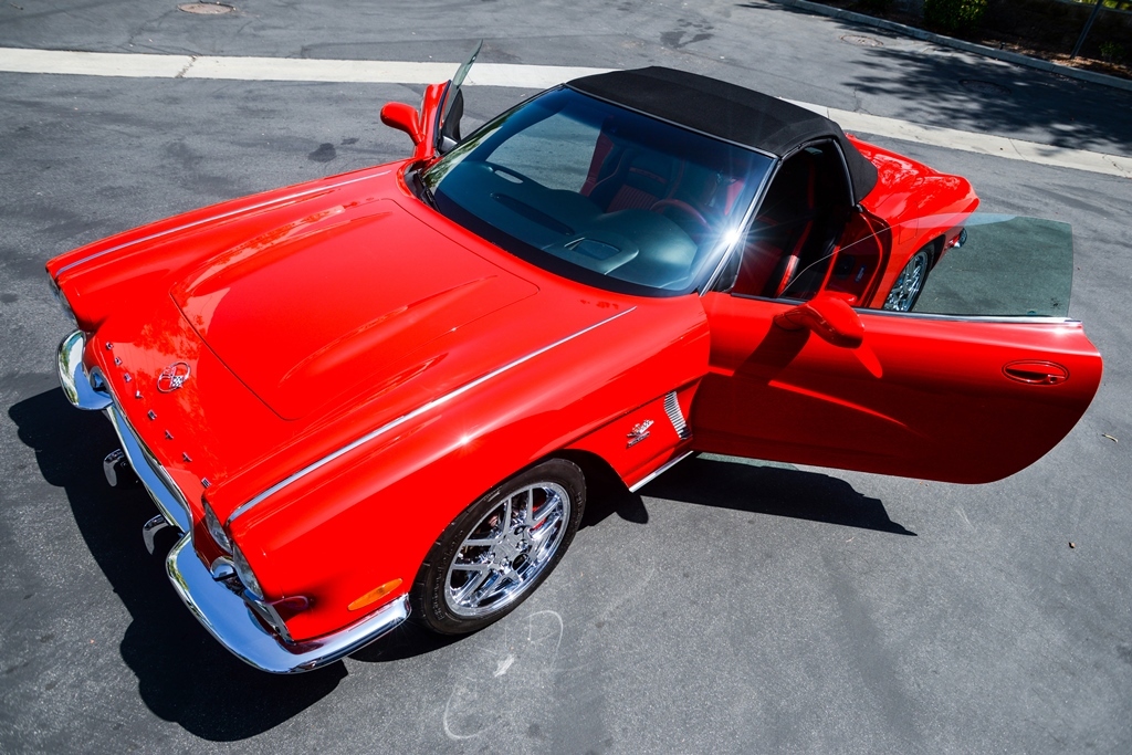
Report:
M 222 520 L 297 469 L 492 368 L 625 315 L 235 518 L 232 533 L 268 597 L 317 597 L 319 610 L 289 625 L 295 640 L 354 620 L 346 606 L 377 585 L 402 578 L 408 589 L 437 534 L 470 500 L 550 453 L 600 455 L 629 481 L 649 474 L 680 439 L 658 428 L 649 444 L 626 448 L 626 434 L 641 411 L 657 415 L 642 407 L 693 384 L 706 363 L 697 298 L 626 297 L 564 281 L 420 205 L 396 168 L 345 177 L 344 186 L 319 181 L 321 190 L 267 211 L 243 203 L 260 208 L 102 254 L 61 275 L 118 244 L 77 250 L 49 268 L 84 329 L 113 345 L 88 350 L 89 367 L 106 376 L 195 517 L 207 479 Z M 212 214 L 225 212 L 222 205 Z M 128 274 L 147 263 L 143 275 Z M 427 290 L 411 282 L 421 267 L 429 275 L 417 280 Z M 389 280 L 408 282 L 383 286 Z M 153 389 L 173 361 L 189 364 L 191 380 L 171 394 Z M 131 400 L 135 386 L 146 387 Z M 500 411 L 508 404 L 515 409 Z M 441 422 L 460 431 L 424 431 Z M 446 480 L 443 496 L 437 480 Z M 412 506 L 411 531 L 406 501 L 429 501 Z M 359 533 L 367 547 L 342 547 Z M 220 555 L 208 538 L 196 542 L 206 560 Z

